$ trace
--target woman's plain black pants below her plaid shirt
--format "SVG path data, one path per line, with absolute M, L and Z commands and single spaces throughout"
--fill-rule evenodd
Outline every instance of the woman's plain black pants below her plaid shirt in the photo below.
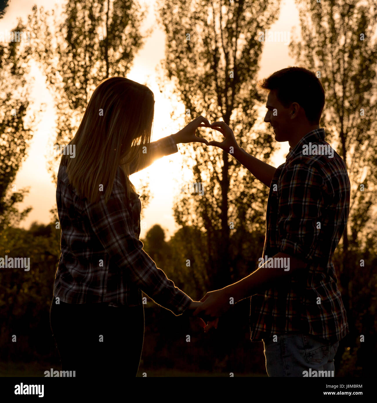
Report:
M 144 341 L 143 305 L 56 304 L 53 298 L 50 326 L 63 371 L 76 371 L 76 377 L 136 376 Z

